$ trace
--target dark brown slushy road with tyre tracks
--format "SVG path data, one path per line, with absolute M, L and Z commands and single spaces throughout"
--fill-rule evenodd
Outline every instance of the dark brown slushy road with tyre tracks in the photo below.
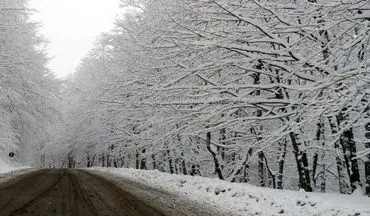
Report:
M 119 185 L 102 175 L 83 170 L 43 169 L 0 184 L 0 216 L 213 214 L 195 206 L 182 209 L 181 213 L 181 209 L 174 206 L 176 199 L 138 183 L 125 181 Z M 183 207 L 185 203 L 179 202 L 178 205 Z

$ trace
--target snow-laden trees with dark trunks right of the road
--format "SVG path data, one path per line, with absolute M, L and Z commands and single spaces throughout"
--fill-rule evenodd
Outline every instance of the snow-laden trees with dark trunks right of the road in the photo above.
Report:
M 367 0 L 122 6 L 64 92 L 53 163 L 370 193 Z

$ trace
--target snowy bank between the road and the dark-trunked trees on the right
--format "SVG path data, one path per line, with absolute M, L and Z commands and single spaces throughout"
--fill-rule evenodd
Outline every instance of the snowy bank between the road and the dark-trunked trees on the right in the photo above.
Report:
M 209 203 L 213 208 L 227 209 L 233 215 L 370 216 L 370 198 L 364 196 L 273 190 L 156 170 L 92 169 L 182 195 L 202 204 Z

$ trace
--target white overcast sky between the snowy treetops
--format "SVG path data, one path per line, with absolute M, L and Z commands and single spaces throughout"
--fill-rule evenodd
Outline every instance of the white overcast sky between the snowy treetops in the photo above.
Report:
M 38 11 L 32 19 L 42 23 L 40 33 L 50 42 L 49 68 L 57 77 L 73 73 L 100 33 L 113 28 L 122 12 L 118 5 L 119 0 L 30 0 Z

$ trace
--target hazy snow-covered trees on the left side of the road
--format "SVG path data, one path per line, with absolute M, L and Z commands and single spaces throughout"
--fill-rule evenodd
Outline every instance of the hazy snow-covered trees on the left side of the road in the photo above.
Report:
M 26 2 L 0 0 L 0 158 L 38 161 L 56 109 L 59 83 L 45 68 L 44 42 Z

